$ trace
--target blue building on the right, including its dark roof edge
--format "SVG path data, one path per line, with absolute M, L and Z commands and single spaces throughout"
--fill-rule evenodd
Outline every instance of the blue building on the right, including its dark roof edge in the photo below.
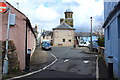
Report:
M 113 56 L 114 77 L 120 78 L 120 1 L 104 2 L 105 60 Z

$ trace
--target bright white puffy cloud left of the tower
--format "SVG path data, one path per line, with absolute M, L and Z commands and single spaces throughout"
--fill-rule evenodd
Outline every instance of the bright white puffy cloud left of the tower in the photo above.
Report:
M 37 9 L 35 9 L 33 15 L 34 18 L 40 22 L 52 22 L 59 17 L 58 13 L 51 8 L 46 8 L 43 5 L 40 5 Z

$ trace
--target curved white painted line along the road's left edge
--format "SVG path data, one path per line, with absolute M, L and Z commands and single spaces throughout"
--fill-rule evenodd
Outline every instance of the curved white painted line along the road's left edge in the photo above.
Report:
M 53 56 L 55 58 L 55 60 L 52 63 L 50 63 L 49 65 L 45 66 L 44 68 L 39 69 L 39 70 L 34 71 L 34 72 L 31 72 L 31 73 L 28 73 L 28 74 L 25 74 L 25 75 L 13 77 L 13 78 L 6 79 L 6 80 L 14 80 L 14 79 L 18 79 L 18 78 L 23 78 L 23 77 L 30 76 L 32 74 L 35 74 L 35 73 L 38 73 L 38 72 L 41 72 L 41 71 L 45 70 L 46 68 L 50 67 L 51 65 L 53 65 L 58 60 L 57 57 L 55 55 L 53 55 L 52 53 L 51 53 L 51 56 Z

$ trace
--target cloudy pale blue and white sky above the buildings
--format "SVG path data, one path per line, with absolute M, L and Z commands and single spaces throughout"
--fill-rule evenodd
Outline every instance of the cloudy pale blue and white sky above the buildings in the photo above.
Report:
M 64 18 L 64 12 L 70 8 L 73 12 L 76 32 L 90 32 L 90 17 L 93 17 L 93 29 L 104 20 L 103 0 L 6 0 L 24 13 L 32 26 L 52 30 Z M 19 6 L 17 5 L 19 3 Z

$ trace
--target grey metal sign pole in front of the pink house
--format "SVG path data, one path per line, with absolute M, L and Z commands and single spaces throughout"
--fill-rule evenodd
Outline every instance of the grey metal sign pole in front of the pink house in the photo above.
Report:
M 8 42 L 9 42 L 9 32 L 10 32 L 10 14 L 11 14 L 11 9 L 8 8 L 8 25 L 7 25 L 7 37 L 6 37 L 6 53 L 5 53 L 5 58 L 4 58 L 4 63 L 3 63 L 3 75 L 8 73 Z

